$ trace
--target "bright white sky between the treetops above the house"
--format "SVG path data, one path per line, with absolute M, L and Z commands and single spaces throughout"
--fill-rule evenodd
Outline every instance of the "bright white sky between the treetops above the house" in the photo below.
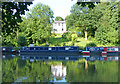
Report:
M 54 12 L 54 17 L 61 16 L 65 19 L 67 15 L 70 15 L 71 7 L 77 2 L 77 0 L 34 0 L 33 4 L 31 4 L 28 8 L 31 9 L 39 2 L 48 5 Z

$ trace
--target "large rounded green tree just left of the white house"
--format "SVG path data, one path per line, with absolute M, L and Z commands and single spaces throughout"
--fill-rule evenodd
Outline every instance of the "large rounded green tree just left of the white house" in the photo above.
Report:
M 52 18 L 53 11 L 49 6 L 42 3 L 36 4 L 30 12 L 28 12 L 20 28 L 29 44 L 34 43 L 39 45 L 40 43 L 48 41 L 51 35 L 52 22 L 50 19 Z

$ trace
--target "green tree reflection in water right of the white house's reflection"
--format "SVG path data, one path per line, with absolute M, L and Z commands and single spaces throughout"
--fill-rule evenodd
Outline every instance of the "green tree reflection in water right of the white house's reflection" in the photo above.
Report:
M 80 64 L 82 66 L 78 67 Z M 79 61 L 68 62 L 66 66 L 68 82 L 117 82 L 118 80 L 118 62 L 115 61 L 89 61 L 87 70 L 84 62 Z

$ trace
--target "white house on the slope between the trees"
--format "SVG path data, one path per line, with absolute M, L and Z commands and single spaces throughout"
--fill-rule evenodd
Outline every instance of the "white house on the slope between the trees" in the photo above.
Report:
M 65 21 L 54 21 L 52 27 L 53 28 L 52 28 L 51 33 L 62 34 L 64 32 L 66 32 L 66 22 Z

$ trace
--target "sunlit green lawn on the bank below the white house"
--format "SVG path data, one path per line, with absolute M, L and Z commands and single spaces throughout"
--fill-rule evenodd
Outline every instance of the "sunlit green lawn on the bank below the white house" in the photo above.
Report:
M 51 36 L 49 38 L 49 46 L 50 47 L 54 47 L 54 46 L 73 46 L 73 41 L 68 41 L 64 38 L 62 38 L 62 35 L 57 34 L 56 36 Z M 106 44 L 106 45 L 102 45 L 97 43 L 94 39 L 93 40 L 85 40 L 85 38 L 83 37 L 78 37 L 77 41 L 74 42 L 74 46 L 79 46 L 80 49 L 84 49 L 86 47 L 87 44 L 89 43 L 95 43 L 97 47 L 109 47 L 109 46 L 115 46 L 115 45 L 110 45 L 110 44 Z M 64 45 L 65 44 L 65 45 Z M 45 43 L 43 43 L 40 46 L 44 46 Z

